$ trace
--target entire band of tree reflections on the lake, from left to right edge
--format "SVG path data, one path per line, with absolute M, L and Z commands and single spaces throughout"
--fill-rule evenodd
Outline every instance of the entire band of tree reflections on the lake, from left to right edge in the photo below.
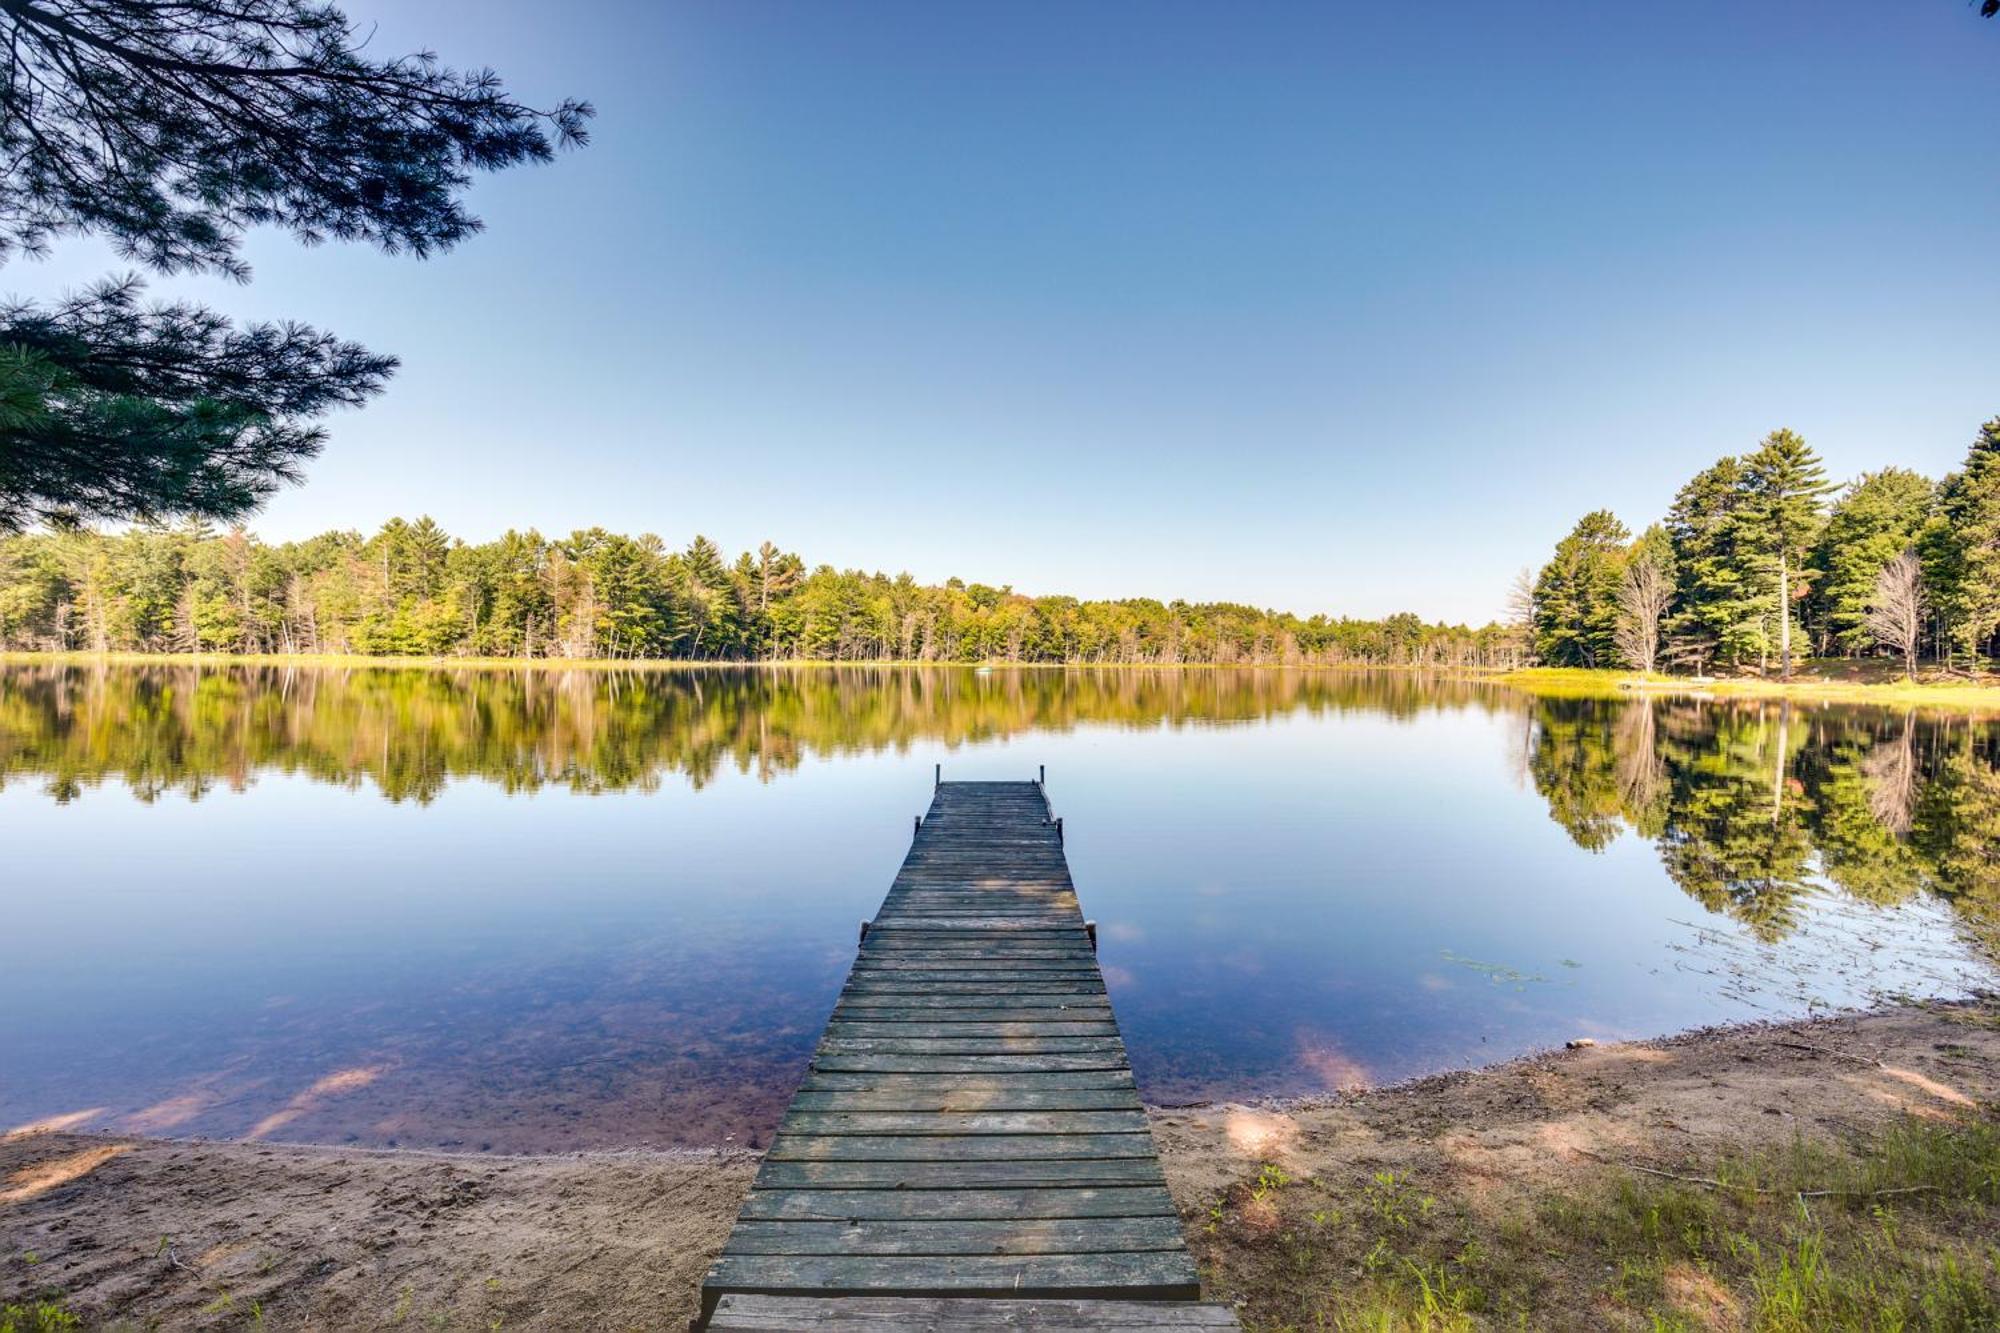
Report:
M 1870 709 L 1536 699 L 1408 673 L 1022 669 L 310 671 L 0 666 L 0 781 L 142 799 L 258 773 L 430 801 L 648 791 L 724 767 L 1110 725 L 1286 715 L 1522 713 L 1526 765 L 1578 847 L 1624 831 L 1710 911 L 1782 939 L 1816 881 L 1896 905 L 1938 895 L 2000 945 L 2000 729 Z

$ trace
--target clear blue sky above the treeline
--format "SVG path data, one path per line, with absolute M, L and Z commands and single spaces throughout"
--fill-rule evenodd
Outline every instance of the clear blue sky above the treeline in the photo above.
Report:
M 154 280 L 404 358 L 270 536 L 1484 618 L 1774 426 L 1940 474 L 2000 412 L 2000 22 L 1954 0 L 348 8 L 600 116 L 448 256 Z

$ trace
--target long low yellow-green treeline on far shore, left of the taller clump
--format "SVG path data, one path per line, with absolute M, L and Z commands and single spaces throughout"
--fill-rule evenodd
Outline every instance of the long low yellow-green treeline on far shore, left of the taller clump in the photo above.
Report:
M 764 542 L 602 528 L 452 538 L 430 518 L 270 544 L 242 528 L 0 538 L 0 648 L 380 656 L 1516 666 L 1520 628 L 1232 602 L 1024 596 Z

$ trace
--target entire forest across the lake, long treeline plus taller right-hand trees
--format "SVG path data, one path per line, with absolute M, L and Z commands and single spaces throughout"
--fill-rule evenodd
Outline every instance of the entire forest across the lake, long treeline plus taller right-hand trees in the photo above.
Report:
M 2000 650 L 2000 418 L 1960 470 L 1826 478 L 1794 432 L 1704 468 L 1638 532 L 1594 510 L 1484 626 L 1236 602 L 1028 596 L 586 528 L 432 518 L 264 542 L 202 520 L 0 536 L 0 650 L 1066 664 L 1980 671 Z

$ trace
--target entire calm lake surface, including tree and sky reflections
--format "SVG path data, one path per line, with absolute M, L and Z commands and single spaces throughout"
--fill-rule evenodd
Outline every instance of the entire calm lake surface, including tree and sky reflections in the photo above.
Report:
M 0 1131 L 760 1145 L 1048 767 L 1142 1091 L 1996 985 L 2000 727 L 1294 671 L 0 666 Z

